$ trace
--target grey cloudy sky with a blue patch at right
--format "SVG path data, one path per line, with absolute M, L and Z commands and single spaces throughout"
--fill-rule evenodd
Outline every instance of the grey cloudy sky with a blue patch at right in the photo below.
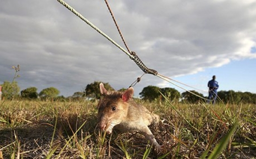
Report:
M 104 0 L 65 2 L 124 47 Z M 130 50 L 147 67 L 203 94 L 212 75 L 220 90 L 256 93 L 255 0 L 109 0 L 109 5 Z M 143 74 L 57 0 L 0 1 L 0 84 L 12 81 L 12 65 L 20 65 L 21 90 L 56 87 L 64 96 L 94 81 L 129 87 Z M 146 74 L 135 95 L 148 85 L 182 91 Z

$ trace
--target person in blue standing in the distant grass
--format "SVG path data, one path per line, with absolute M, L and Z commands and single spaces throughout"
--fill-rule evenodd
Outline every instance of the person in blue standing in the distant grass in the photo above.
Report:
M 208 103 L 210 103 L 210 101 L 213 98 L 213 104 L 215 104 L 215 102 L 216 102 L 217 89 L 219 87 L 218 82 L 215 79 L 216 79 L 216 76 L 215 75 L 212 76 L 212 79 L 209 80 L 208 85 L 207 85 L 209 87 L 209 97 L 208 97 L 209 101 L 208 101 Z

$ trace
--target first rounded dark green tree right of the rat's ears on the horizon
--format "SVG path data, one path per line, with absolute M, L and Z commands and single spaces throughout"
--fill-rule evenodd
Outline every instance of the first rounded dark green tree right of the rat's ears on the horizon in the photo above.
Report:
M 160 96 L 159 91 L 160 91 L 159 87 L 147 86 L 142 89 L 139 95 L 143 100 L 154 101 L 155 99 L 159 99 L 159 96 Z

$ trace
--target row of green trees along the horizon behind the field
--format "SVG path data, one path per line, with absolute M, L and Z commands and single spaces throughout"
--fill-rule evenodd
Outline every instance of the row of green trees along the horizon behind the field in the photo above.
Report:
M 14 81 L 10 83 L 9 81 L 5 81 L 2 86 L 2 99 L 12 100 L 12 99 L 29 99 L 29 100 L 59 100 L 59 101 L 75 101 L 75 100 L 91 100 L 91 99 L 99 99 L 101 97 L 99 84 L 101 81 L 94 81 L 91 84 L 88 84 L 85 87 L 84 91 L 75 92 L 70 97 L 59 96 L 60 91 L 55 87 L 48 87 L 37 92 L 36 87 L 28 87 L 20 91 L 20 87 L 17 82 Z M 104 82 L 102 82 L 104 83 Z M 104 86 L 107 90 L 114 90 L 113 87 L 109 85 L 109 83 L 104 83 Z M 126 88 L 122 88 L 118 91 L 124 91 Z M 193 94 L 191 94 L 192 92 Z M 196 95 L 194 95 L 196 94 Z M 203 96 L 203 94 L 196 92 L 195 90 L 190 90 L 189 92 L 183 92 L 180 94 L 178 90 L 175 88 L 165 87 L 160 88 L 156 86 L 147 86 L 142 89 L 139 93 L 140 98 L 147 101 L 178 101 L 178 102 L 188 102 L 188 103 L 198 103 L 204 102 L 207 97 Z M 202 98 L 201 98 L 202 97 Z M 204 98 L 204 99 L 203 99 Z M 218 92 L 218 101 L 224 103 L 251 103 L 256 104 L 256 94 L 250 92 L 235 92 L 233 90 L 229 91 L 219 91 Z

